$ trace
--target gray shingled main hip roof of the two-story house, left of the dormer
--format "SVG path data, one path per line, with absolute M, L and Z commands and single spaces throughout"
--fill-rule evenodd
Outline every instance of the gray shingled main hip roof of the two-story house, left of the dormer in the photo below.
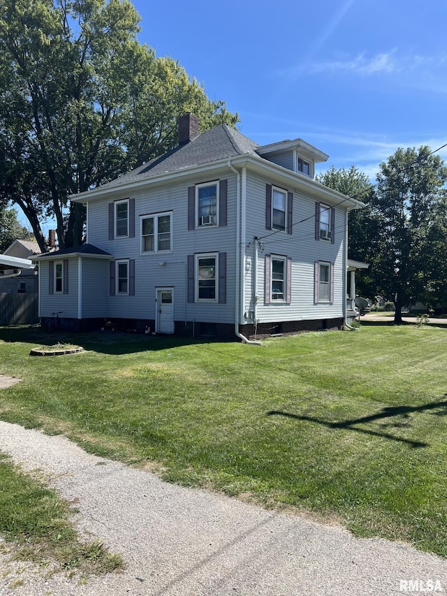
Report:
M 161 174 L 168 174 L 200 166 L 204 163 L 235 157 L 245 153 L 256 155 L 257 143 L 231 128 L 228 124 L 219 124 L 214 129 L 205 131 L 186 145 L 175 147 L 173 150 L 156 157 L 139 168 L 112 180 L 104 187 L 116 187 L 121 184 L 147 180 Z

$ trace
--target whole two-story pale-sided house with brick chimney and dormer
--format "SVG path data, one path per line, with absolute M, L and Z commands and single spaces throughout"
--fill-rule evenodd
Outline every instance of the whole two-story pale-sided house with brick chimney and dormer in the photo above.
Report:
M 234 339 L 342 328 L 348 212 L 323 186 L 328 156 L 301 139 L 259 146 L 222 124 L 91 191 L 87 244 L 42 254 L 40 317 Z

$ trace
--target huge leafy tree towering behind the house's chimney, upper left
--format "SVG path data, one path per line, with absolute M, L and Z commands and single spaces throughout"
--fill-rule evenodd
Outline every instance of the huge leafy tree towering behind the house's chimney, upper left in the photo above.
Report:
M 0 6 L 0 199 L 41 221 L 59 246 L 82 241 L 68 196 L 108 182 L 177 143 L 177 117 L 202 130 L 237 115 L 210 101 L 176 61 L 138 42 L 129 0 L 3 0 Z

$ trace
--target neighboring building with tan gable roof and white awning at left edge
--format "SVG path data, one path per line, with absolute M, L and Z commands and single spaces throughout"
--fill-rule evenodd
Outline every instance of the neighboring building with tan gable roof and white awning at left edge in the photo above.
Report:
M 2 266 L 0 273 L 0 293 L 31 293 L 38 292 L 37 268 L 31 263 L 30 258 L 39 254 L 41 249 L 34 240 L 14 240 L 8 246 L 0 259 L 19 259 L 15 262 L 15 267 L 8 268 L 8 263 L 0 262 Z M 4 259 L 3 257 L 8 257 Z M 10 262 L 10 261 L 9 261 Z

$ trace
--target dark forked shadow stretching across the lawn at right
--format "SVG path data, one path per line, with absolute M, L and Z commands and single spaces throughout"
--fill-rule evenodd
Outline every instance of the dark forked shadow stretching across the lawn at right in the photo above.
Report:
M 444 394 L 444 395 L 447 395 Z M 307 422 L 314 422 L 317 424 L 321 424 L 326 428 L 332 428 L 334 430 L 337 429 L 344 429 L 344 430 L 353 430 L 356 433 L 363 433 L 365 435 L 373 435 L 375 437 L 383 437 L 384 439 L 391 439 L 393 441 L 397 441 L 400 443 L 405 443 L 412 448 L 418 447 L 428 447 L 429 444 L 420 441 L 412 441 L 411 439 L 404 439 L 403 437 L 397 437 L 395 435 L 391 435 L 390 433 L 385 433 L 382 430 L 372 430 L 370 428 L 361 428 L 356 425 L 358 424 L 368 424 L 379 420 L 386 420 L 392 419 L 396 416 L 404 417 L 405 419 L 409 419 L 410 414 L 416 412 L 427 412 L 430 410 L 439 409 L 438 412 L 433 412 L 436 416 L 445 416 L 447 414 L 447 400 L 439 401 L 439 402 L 432 402 L 420 406 L 395 406 L 395 407 L 384 407 L 376 414 L 370 414 L 369 416 L 362 416 L 361 418 L 355 418 L 351 420 L 343 420 L 341 422 L 330 422 L 327 420 L 323 420 L 320 418 L 315 418 L 313 416 L 299 416 L 298 414 L 291 414 L 290 412 L 280 412 L 278 410 L 270 410 L 267 412 L 268 416 L 286 416 L 287 418 L 295 419 L 295 420 L 302 420 Z M 399 428 L 402 426 L 407 426 L 406 424 L 402 424 L 397 420 L 394 420 L 393 423 L 384 424 L 383 426 L 393 426 L 394 428 Z

